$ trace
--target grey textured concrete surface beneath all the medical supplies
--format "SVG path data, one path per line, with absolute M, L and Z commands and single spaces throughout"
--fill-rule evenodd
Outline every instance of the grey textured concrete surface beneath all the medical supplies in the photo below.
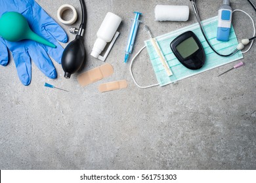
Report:
M 81 15 L 78 0 L 37 3 L 55 20 L 64 3 L 74 5 Z M 158 4 L 188 5 L 189 21 L 154 22 Z M 217 15 L 221 0 L 197 4 L 204 20 Z M 87 64 L 83 71 L 102 65 L 89 54 L 106 13 L 123 19 L 121 35 L 106 59 L 114 66 L 114 75 L 81 87 L 77 75 L 65 79 L 56 62 L 56 80 L 33 64 L 32 83 L 26 87 L 18 80 L 13 60 L 1 67 L 0 169 L 256 169 L 255 45 L 244 55 L 244 67 L 221 77 L 217 75 L 234 63 L 177 84 L 142 90 L 133 83 L 129 65 L 123 63 L 132 12 L 142 12 L 152 33 L 161 35 L 196 23 L 190 1 L 88 0 L 86 5 Z M 256 20 L 247 1 L 234 0 L 232 7 L 246 10 Z M 69 26 L 62 27 L 68 33 Z M 239 39 L 253 33 L 242 13 L 234 15 L 234 27 Z M 68 37 L 72 41 L 75 36 L 68 33 Z M 146 39 L 140 27 L 132 56 Z M 133 70 L 140 84 L 156 83 L 146 52 Z M 121 79 L 129 82 L 127 89 L 98 92 L 98 84 Z M 72 92 L 45 88 L 45 82 Z

